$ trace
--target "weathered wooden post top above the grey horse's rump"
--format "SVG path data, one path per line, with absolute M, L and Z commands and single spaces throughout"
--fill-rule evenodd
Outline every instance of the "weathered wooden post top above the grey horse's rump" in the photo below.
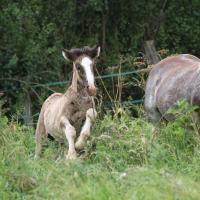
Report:
M 144 50 L 145 50 L 145 55 L 147 58 L 148 65 L 153 65 L 160 61 L 160 58 L 156 52 L 154 40 L 145 41 Z

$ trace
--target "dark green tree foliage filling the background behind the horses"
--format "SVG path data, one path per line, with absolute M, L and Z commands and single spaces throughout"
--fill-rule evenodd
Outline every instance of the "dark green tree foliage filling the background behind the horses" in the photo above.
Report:
M 198 0 L 2 0 L 0 8 L 0 91 L 12 114 L 27 93 L 38 110 L 51 90 L 34 88 L 35 83 L 70 78 L 71 67 L 61 56 L 62 48 L 100 44 L 101 74 L 118 64 L 119 55 L 137 56 L 147 39 L 155 39 L 157 49 L 171 53 L 198 56 L 200 52 Z M 129 63 L 122 70 L 135 68 Z M 139 90 L 135 93 L 143 95 Z

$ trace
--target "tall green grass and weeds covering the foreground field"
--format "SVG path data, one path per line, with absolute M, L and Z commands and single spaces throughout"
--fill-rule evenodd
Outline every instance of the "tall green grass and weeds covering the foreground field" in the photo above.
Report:
M 34 160 L 34 130 L 0 118 L 0 199 L 200 199 L 198 125 L 190 113 L 153 126 L 145 117 L 105 115 L 85 152 L 46 141 Z

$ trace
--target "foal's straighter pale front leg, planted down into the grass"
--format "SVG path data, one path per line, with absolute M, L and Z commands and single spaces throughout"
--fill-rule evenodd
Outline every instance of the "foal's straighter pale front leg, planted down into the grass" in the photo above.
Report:
M 61 119 L 62 124 L 62 130 L 65 133 L 65 136 L 67 138 L 68 144 L 69 144 L 69 150 L 68 154 L 66 156 L 67 159 L 75 159 L 76 158 L 76 150 L 75 150 L 75 138 L 76 138 L 76 130 L 75 128 L 70 124 L 69 120 L 63 117 Z

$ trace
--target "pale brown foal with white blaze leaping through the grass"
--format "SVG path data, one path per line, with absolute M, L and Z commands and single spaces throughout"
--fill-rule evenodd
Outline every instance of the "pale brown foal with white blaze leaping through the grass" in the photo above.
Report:
M 91 96 L 96 95 L 93 65 L 95 57 L 100 54 L 100 47 L 63 50 L 62 54 L 66 60 L 73 62 L 72 83 L 64 94 L 54 93 L 42 105 L 35 134 L 36 158 L 47 134 L 60 142 L 67 139 L 67 159 L 76 158 L 76 150 L 84 148 L 91 122 L 97 115 Z M 80 135 L 76 140 L 77 131 Z

